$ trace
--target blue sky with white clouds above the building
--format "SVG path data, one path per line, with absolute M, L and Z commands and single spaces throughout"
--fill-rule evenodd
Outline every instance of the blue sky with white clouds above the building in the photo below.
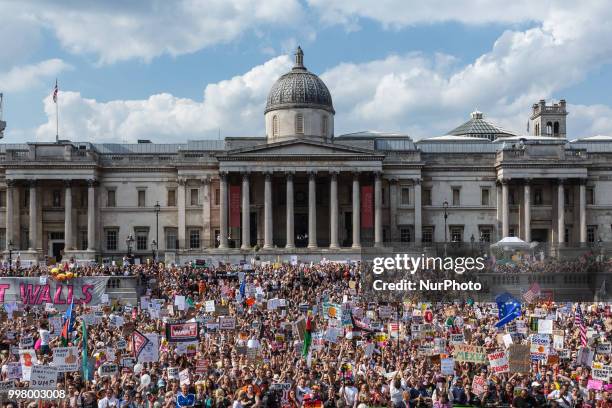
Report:
M 569 138 L 612 134 L 605 1 L 208 0 L 0 2 L 9 143 L 263 135 L 263 107 L 300 44 L 336 134 L 444 134 L 475 108 L 524 131 L 567 99 Z

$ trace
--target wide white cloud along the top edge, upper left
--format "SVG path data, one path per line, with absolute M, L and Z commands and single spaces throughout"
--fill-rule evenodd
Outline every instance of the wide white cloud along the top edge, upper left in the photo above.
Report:
M 113 63 L 192 53 L 251 29 L 295 24 L 302 10 L 298 0 L 147 0 L 30 1 L 10 12 L 51 29 L 72 53 Z

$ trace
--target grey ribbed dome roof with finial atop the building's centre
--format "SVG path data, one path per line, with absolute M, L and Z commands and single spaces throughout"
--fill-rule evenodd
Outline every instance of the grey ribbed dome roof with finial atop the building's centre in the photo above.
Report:
M 304 53 L 300 47 L 295 53 L 293 69 L 272 86 L 264 113 L 294 108 L 315 108 L 335 113 L 329 89 L 318 76 L 304 67 Z

